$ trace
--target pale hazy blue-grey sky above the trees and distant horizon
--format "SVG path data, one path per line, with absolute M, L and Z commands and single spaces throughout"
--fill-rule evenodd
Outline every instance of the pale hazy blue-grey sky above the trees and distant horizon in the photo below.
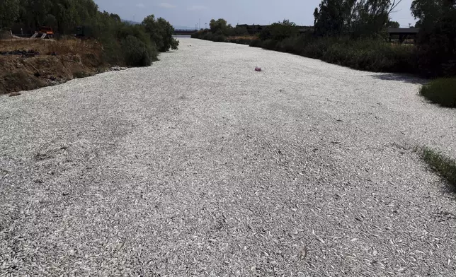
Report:
M 393 20 L 401 27 L 409 27 L 415 20 L 410 14 L 412 0 L 403 0 Z M 274 23 L 290 19 L 298 25 L 314 24 L 314 9 L 321 0 L 95 0 L 101 10 L 118 13 L 127 20 L 142 21 L 154 14 L 168 20 L 172 25 L 195 27 L 201 20 L 201 28 L 211 18 L 224 18 L 232 25 Z

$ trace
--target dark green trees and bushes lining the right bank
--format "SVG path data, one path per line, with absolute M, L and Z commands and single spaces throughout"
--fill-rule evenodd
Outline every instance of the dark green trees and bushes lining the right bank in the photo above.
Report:
M 387 43 L 387 28 L 399 28 L 391 15 L 400 0 L 322 0 L 314 10 L 314 32 L 283 20 L 268 25 L 251 46 L 300 54 L 370 71 L 456 76 L 456 0 L 414 0 L 411 14 L 420 28 L 416 46 Z M 248 35 L 245 28 L 211 20 L 193 37 L 227 41 Z

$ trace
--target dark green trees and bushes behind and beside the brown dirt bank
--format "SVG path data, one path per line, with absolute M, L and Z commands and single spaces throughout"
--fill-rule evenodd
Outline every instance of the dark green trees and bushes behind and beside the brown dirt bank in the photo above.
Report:
M 117 14 L 99 11 L 93 0 L 0 0 L 0 7 L 0 28 L 18 25 L 34 32 L 47 25 L 62 36 L 86 26 L 102 43 L 108 63 L 149 66 L 159 52 L 178 48 L 164 18 L 151 15 L 140 25 L 123 23 Z

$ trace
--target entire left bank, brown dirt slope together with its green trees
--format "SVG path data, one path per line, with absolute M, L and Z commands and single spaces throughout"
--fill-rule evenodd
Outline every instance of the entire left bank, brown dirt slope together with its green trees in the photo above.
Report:
M 41 26 L 55 35 L 45 40 L 12 35 L 33 34 Z M 84 33 L 74 37 L 81 26 Z M 125 22 L 99 11 L 93 0 L 5 1 L 0 11 L 0 94 L 51 86 L 112 66 L 150 66 L 160 52 L 178 49 L 173 31 L 154 15 L 140 24 Z

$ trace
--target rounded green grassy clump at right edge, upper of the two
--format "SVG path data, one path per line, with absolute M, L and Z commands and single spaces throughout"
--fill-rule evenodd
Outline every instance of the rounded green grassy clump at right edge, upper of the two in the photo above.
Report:
M 456 78 L 441 78 L 423 86 L 420 94 L 443 107 L 456 107 Z

